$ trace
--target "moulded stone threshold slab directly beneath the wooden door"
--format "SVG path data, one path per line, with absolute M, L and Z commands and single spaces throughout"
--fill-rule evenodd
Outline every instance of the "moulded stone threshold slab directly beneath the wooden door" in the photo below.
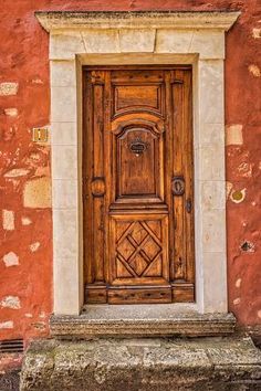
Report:
M 87 305 L 50 319 L 55 338 L 226 336 L 234 326 L 232 314 L 199 314 L 195 304 Z

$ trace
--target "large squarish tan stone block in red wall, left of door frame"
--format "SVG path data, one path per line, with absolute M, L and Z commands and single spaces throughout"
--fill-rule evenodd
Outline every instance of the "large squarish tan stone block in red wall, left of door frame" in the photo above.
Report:
M 23 189 L 24 208 L 51 208 L 51 180 L 48 177 L 31 179 Z

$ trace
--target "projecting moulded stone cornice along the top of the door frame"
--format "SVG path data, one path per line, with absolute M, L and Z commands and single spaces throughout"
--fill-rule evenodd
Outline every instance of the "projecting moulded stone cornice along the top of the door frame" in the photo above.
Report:
M 41 25 L 48 31 L 63 29 L 218 29 L 228 31 L 240 12 L 180 12 L 180 11 L 130 11 L 130 12 L 35 12 Z

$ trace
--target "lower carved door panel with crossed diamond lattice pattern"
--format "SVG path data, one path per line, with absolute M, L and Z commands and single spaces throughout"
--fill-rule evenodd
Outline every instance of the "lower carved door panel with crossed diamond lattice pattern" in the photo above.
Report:
M 168 283 L 167 216 L 113 216 L 112 283 Z

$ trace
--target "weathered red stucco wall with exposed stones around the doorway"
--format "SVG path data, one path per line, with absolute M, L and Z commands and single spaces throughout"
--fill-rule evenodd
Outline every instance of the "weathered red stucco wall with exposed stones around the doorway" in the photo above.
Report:
M 0 92 L 6 82 L 18 83 L 18 91 L 6 95 L 3 85 L 0 93 L 0 339 L 46 335 L 52 311 L 52 211 L 46 186 L 51 175 L 50 147 L 31 141 L 31 129 L 50 121 L 49 35 L 34 18 L 35 10 L 242 11 L 227 34 L 226 124 L 230 139 L 236 137 L 238 142 L 227 146 L 229 309 L 241 324 L 261 323 L 258 3 L 259 0 L 2 0 Z M 24 197 L 25 189 L 33 194 L 32 181 L 42 189 L 41 208 L 31 208 L 30 194 Z M 246 241 L 243 251 L 240 246 Z

